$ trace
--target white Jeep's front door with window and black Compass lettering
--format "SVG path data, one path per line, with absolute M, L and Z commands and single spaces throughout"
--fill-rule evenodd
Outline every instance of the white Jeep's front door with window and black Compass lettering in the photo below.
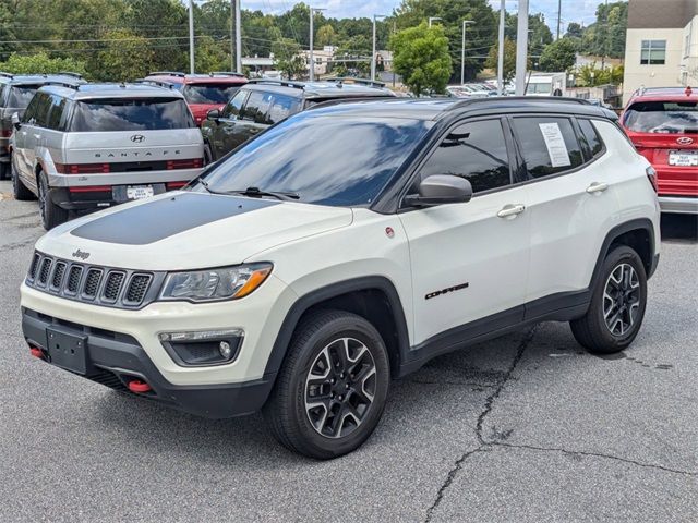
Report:
M 452 127 L 419 169 L 419 181 L 432 174 L 467 178 L 473 197 L 400 214 L 412 267 L 416 344 L 450 329 L 471 337 L 524 317 L 528 187 L 512 183 L 512 146 L 504 119 L 467 121 Z

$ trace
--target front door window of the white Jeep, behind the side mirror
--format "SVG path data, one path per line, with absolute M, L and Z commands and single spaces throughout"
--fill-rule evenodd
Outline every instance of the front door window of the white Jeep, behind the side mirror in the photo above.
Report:
M 420 179 L 433 174 L 466 178 L 473 193 L 508 185 L 509 159 L 500 120 L 469 122 L 448 133 L 422 167 Z

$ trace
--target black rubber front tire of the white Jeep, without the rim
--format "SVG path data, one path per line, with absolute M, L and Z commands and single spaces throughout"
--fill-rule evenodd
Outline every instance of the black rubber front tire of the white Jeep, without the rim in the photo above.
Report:
M 333 339 L 359 339 L 375 362 L 373 403 L 362 423 L 345 437 L 320 435 L 305 412 L 305 379 L 310 366 Z M 274 437 L 286 448 L 310 458 L 327 460 L 360 447 L 373 433 L 383 414 L 390 381 L 390 365 L 378 331 L 361 316 L 344 311 L 318 311 L 301 320 L 276 379 L 263 415 Z

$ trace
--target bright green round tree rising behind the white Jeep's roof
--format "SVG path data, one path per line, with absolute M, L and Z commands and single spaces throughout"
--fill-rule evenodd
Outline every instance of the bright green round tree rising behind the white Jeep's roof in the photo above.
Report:
M 448 38 L 437 25 L 402 29 L 390 37 L 393 69 L 414 95 L 443 93 L 453 71 Z

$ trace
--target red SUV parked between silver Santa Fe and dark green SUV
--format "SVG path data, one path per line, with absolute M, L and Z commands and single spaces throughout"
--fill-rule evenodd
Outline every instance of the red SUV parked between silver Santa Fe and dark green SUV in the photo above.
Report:
M 208 111 L 222 109 L 240 86 L 248 83 L 248 78 L 238 73 L 185 74 L 173 71 L 157 71 L 143 81 L 181 90 L 200 126 Z

